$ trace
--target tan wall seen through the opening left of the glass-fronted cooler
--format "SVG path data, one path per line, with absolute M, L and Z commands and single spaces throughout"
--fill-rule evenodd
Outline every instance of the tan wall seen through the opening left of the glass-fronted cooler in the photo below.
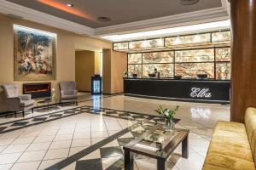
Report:
M 95 52 L 76 52 L 76 82 L 79 91 L 90 92 L 90 78 L 95 74 Z

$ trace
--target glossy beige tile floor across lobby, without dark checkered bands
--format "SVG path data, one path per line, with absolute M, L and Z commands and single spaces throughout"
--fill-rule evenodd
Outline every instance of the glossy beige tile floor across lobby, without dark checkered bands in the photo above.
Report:
M 181 121 L 177 123 L 176 127 L 190 129 L 189 159 L 172 156 L 168 167 L 174 170 L 201 169 L 211 139 L 212 127 L 220 120 L 230 120 L 230 107 L 227 105 L 140 99 L 124 95 L 103 99 L 95 97 L 91 101 L 80 102 L 79 106 L 82 105 L 134 111 L 148 115 L 155 115 L 154 110 L 159 105 L 168 108 L 180 105 L 176 117 Z M 73 107 L 77 106 L 61 107 L 61 110 L 58 111 Z M 34 116 L 45 113 L 36 111 Z M 32 115 L 26 117 L 30 116 Z M 0 118 L 0 122 L 18 119 L 22 119 L 22 117 L 3 117 Z M 96 144 L 96 142 L 108 138 L 108 136 L 119 132 L 132 123 L 134 122 L 83 113 L 0 134 L 0 169 L 44 169 L 68 156 L 72 156 L 79 150 L 84 150 L 91 144 Z M 180 153 L 180 150 L 179 147 L 176 152 Z M 139 170 L 156 169 L 155 161 L 147 157 L 142 156 L 135 163 Z M 72 165 L 69 167 L 69 169 L 73 169 Z M 65 169 L 68 169 L 68 167 Z

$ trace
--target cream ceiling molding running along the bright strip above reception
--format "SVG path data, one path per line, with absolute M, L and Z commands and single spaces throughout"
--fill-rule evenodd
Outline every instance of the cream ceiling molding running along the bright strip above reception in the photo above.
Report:
M 191 24 L 201 24 L 218 20 L 228 20 L 226 8 L 210 8 L 185 14 L 176 14 L 166 17 L 160 17 L 151 20 L 142 20 L 116 26 L 106 26 L 96 28 L 96 36 L 106 36 L 109 34 L 132 33 L 136 31 L 150 31 L 155 29 L 164 29 L 176 26 L 186 26 Z

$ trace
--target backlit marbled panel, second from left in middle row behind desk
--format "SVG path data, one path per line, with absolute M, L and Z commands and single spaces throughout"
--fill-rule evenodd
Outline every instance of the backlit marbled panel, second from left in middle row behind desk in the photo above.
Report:
M 174 52 L 155 52 L 155 53 L 143 53 L 143 64 L 147 63 L 173 63 Z

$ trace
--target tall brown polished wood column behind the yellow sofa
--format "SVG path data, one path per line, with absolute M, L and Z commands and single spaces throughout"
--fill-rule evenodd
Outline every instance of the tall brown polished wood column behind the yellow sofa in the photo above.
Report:
M 231 0 L 231 121 L 256 107 L 256 0 Z

